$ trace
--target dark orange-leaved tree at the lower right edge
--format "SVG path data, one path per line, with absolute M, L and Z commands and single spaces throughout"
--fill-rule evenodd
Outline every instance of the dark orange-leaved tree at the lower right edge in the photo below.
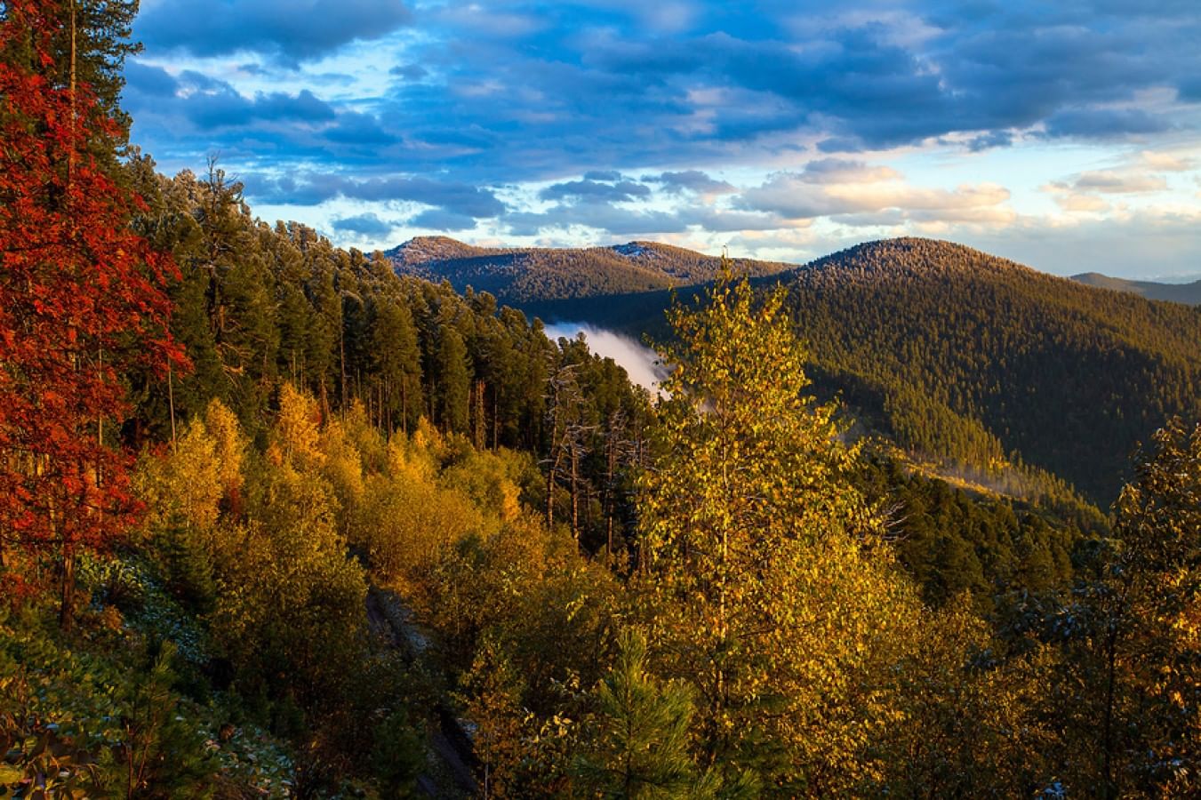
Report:
M 1201 424 L 1173 419 L 1152 444 L 1078 615 L 1081 753 L 1094 753 L 1082 781 L 1106 798 L 1201 789 Z

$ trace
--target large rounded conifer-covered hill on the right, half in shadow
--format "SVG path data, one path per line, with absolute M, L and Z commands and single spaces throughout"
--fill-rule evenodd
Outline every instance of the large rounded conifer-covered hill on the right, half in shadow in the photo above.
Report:
M 1092 289 L 949 243 L 897 239 L 789 285 L 815 368 L 907 449 L 1022 461 L 1107 503 L 1172 414 L 1201 412 L 1201 310 Z

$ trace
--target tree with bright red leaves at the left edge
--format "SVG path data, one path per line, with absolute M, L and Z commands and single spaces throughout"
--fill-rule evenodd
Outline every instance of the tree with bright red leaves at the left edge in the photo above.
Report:
M 54 568 L 66 627 L 77 555 L 109 545 L 138 511 L 130 456 L 112 444 L 127 410 L 120 376 L 184 364 L 163 291 L 177 270 L 129 229 L 141 201 L 89 155 L 116 138 L 114 120 L 76 85 L 73 62 L 56 77 L 73 0 L 0 11 L 0 565 L 10 579 Z

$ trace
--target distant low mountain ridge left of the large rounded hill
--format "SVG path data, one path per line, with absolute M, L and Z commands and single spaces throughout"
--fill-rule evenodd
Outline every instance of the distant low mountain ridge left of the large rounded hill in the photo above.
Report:
M 605 297 L 694 286 L 713 280 L 721 258 L 652 241 L 611 247 L 476 247 L 447 237 L 418 237 L 384 252 L 396 271 L 468 286 L 501 303 Z M 761 276 L 795 264 L 734 259 Z

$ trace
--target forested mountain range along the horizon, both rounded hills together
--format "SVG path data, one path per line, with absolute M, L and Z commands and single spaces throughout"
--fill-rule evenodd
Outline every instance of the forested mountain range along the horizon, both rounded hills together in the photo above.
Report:
M 388 255 L 401 271 L 548 321 L 659 338 L 670 289 L 712 280 L 719 264 L 652 243 L 507 250 L 431 238 Z M 1104 506 L 1137 442 L 1170 414 L 1201 418 L 1201 308 L 928 239 L 735 268 L 788 288 L 821 394 L 944 474 L 1023 496 L 1075 489 Z

